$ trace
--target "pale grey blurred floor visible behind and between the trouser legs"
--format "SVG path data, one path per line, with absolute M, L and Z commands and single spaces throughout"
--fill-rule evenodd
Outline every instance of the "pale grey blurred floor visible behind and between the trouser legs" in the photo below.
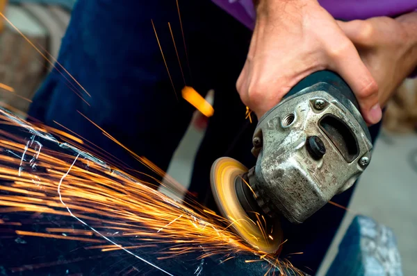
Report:
M 188 187 L 190 182 L 195 152 L 203 135 L 204 132 L 190 126 L 167 171 L 184 187 Z M 413 153 L 414 167 L 411 162 Z M 416 166 L 417 135 L 381 135 L 375 145 L 372 162 L 354 193 L 350 212 L 317 275 L 325 275 L 338 251 L 338 243 L 355 214 L 370 216 L 391 227 L 398 239 L 404 275 L 417 275 Z

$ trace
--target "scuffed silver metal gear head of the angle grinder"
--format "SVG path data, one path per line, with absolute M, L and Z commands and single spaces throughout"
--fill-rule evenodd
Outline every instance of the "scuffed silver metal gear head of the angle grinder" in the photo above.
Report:
M 262 145 L 252 149 L 257 162 L 251 185 L 263 209 L 267 204 L 293 223 L 349 189 L 370 162 L 372 143 L 357 107 L 320 88 L 284 99 L 254 132 L 253 141 Z

